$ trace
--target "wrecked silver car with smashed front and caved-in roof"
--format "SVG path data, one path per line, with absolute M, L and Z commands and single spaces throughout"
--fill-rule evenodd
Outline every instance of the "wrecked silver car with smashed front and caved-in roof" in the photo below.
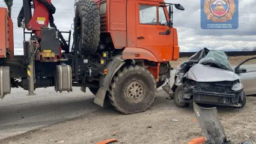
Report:
M 178 107 L 187 107 L 193 101 L 230 107 L 246 104 L 240 77 L 220 50 L 204 48 L 178 65 L 171 89 Z

